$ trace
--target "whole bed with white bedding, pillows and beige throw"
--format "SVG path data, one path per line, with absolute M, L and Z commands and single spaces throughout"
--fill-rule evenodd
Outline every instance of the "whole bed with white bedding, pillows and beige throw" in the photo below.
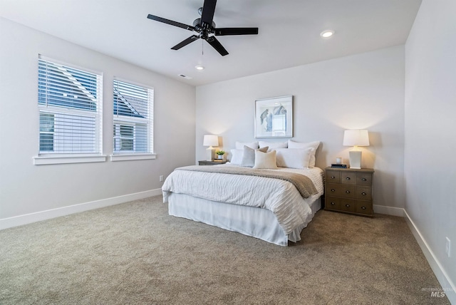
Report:
M 321 209 L 323 170 L 309 167 L 314 165 L 309 160 L 316 148 L 306 150 L 304 163 L 294 164 L 300 168 L 291 168 L 283 166 L 291 165 L 284 162 L 290 160 L 286 155 L 293 154 L 294 161 L 298 155 L 301 160 L 302 149 L 266 147 L 261 152 L 252 146 L 244 145 L 242 149 L 243 160 L 254 153 L 252 167 L 242 161 L 237 164 L 232 151 L 232 162 L 226 165 L 175 169 L 162 187 L 169 214 L 280 246 L 301 240 L 302 229 Z M 249 161 L 252 165 L 252 158 Z

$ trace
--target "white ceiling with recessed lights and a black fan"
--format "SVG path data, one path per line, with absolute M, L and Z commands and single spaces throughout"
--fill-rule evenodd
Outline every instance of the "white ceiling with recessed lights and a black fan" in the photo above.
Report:
M 229 55 L 193 33 L 147 19 L 192 25 L 204 0 L 0 0 L 0 16 L 194 86 L 405 43 L 421 0 L 219 0 L 217 27 L 258 35 L 217 36 Z M 332 29 L 331 38 L 320 33 Z M 197 71 L 196 65 L 205 67 Z M 192 79 L 179 76 L 184 74 Z

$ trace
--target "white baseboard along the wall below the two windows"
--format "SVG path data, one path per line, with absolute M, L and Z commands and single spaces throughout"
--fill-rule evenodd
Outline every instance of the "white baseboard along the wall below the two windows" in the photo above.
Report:
M 41 220 L 61 217 L 69 214 L 84 212 L 88 210 L 99 209 L 100 207 L 108 207 L 110 205 L 118 205 L 133 200 L 139 200 L 147 197 L 162 195 L 162 189 L 147 190 L 145 192 L 136 192 L 133 194 L 122 195 L 118 197 L 111 197 L 102 200 L 95 200 L 91 202 L 84 202 L 78 205 L 70 205 L 68 207 L 58 207 L 52 210 L 41 212 L 34 212 L 31 214 L 24 214 L 15 217 L 0 219 L 0 229 L 7 229 L 10 227 L 17 227 L 23 224 L 30 224 L 32 222 L 39 222 Z

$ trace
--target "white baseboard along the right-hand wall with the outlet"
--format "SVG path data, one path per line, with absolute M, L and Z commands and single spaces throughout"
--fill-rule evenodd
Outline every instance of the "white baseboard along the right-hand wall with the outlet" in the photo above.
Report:
M 427 259 L 427 262 L 430 264 L 430 267 L 432 271 L 435 274 L 435 277 L 437 277 L 437 281 L 439 281 L 440 285 L 442 286 L 442 291 L 445 292 L 445 295 L 447 296 L 448 300 L 450 300 L 451 304 L 456 304 L 456 285 L 455 283 L 452 282 L 450 279 L 450 276 L 448 276 L 447 272 L 445 272 L 445 269 L 443 269 L 442 264 L 440 264 L 439 260 L 437 257 L 435 257 L 434 252 L 432 252 L 432 249 L 430 249 L 429 244 L 425 241 L 423 238 L 423 235 L 420 233 L 420 230 L 418 227 L 416 227 L 415 223 L 413 220 L 410 218 L 408 215 L 407 211 L 404 210 L 404 217 L 405 221 L 408 224 L 408 227 L 410 227 L 410 231 L 412 231 L 413 236 L 417 240 L 418 244 L 420 245 L 421 251 L 423 251 L 423 254 L 425 254 L 425 257 Z M 431 287 L 422 287 L 422 288 L 431 288 Z M 437 288 L 437 287 L 433 287 Z M 429 293 L 430 294 L 430 293 Z

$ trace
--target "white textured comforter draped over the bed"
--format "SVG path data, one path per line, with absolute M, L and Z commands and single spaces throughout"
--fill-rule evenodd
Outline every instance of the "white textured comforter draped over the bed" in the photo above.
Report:
M 175 192 L 217 202 L 261 207 L 273 212 L 284 232 L 289 234 L 312 217 L 309 203 L 323 194 L 323 171 L 318 167 L 302 170 L 279 167 L 279 170 L 298 172 L 311 178 L 318 194 L 304 199 L 294 185 L 279 179 L 175 170 L 162 186 L 163 202 L 167 202 L 168 195 Z

